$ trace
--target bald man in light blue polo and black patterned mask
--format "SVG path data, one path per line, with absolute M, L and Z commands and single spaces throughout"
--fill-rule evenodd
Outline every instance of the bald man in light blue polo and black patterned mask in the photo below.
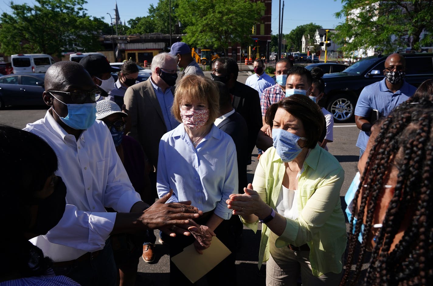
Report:
M 388 116 L 392 109 L 406 101 L 417 89 L 404 80 L 406 60 L 401 54 L 391 54 L 385 60 L 385 78 L 370 84 L 361 91 L 355 107 L 355 123 L 361 130 L 356 146 L 359 158 L 365 151 L 368 138 L 375 129 L 375 122 Z

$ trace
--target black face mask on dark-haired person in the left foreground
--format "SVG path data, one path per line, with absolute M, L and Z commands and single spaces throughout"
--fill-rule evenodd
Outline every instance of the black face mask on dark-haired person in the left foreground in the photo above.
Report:
M 61 180 L 61 177 L 58 177 L 54 192 L 37 203 L 38 214 L 36 223 L 28 231 L 38 235 L 45 235 L 50 229 L 55 227 L 65 212 L 65 197 L 66 185 Z

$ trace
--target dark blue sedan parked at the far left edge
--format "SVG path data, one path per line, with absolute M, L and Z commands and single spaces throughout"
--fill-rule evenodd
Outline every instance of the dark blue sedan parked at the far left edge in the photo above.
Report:
M 13 105 L 45 106 L 45 74 L 10 74 L 0 77 L 0 109 Z

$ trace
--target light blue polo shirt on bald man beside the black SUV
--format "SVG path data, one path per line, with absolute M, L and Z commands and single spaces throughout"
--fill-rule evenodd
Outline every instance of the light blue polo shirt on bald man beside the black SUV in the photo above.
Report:
M 404 103 L 410 96 L 414 95 L 416 87 L 404 81 L 400 90 L 393 93 L 386 86 L 386 77 L 374 84 L 370 84 L 361 91 L 358 102 L 355 107 L 355 115 L 362 117 L 369 117 L 373 109 L 378 110 L 379 117 L 388 116 L 392 109 L 396 108 L 401 103 Z M 360 131 L 356 146 L 362 150 L 367 147 L 370 132 L 365 133 Z

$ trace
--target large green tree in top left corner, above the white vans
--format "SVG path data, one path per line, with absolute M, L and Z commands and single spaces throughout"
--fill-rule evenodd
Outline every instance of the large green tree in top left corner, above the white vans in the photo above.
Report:
M 85 0 L 35 0 L 34 6 L 10 2 L 11 14 L 0 16 L 0 51 L 44 53 L 61 57 L 73 44 L 88 51 L 100 48 L 99 31 L 107 24 L 85 13 Z

